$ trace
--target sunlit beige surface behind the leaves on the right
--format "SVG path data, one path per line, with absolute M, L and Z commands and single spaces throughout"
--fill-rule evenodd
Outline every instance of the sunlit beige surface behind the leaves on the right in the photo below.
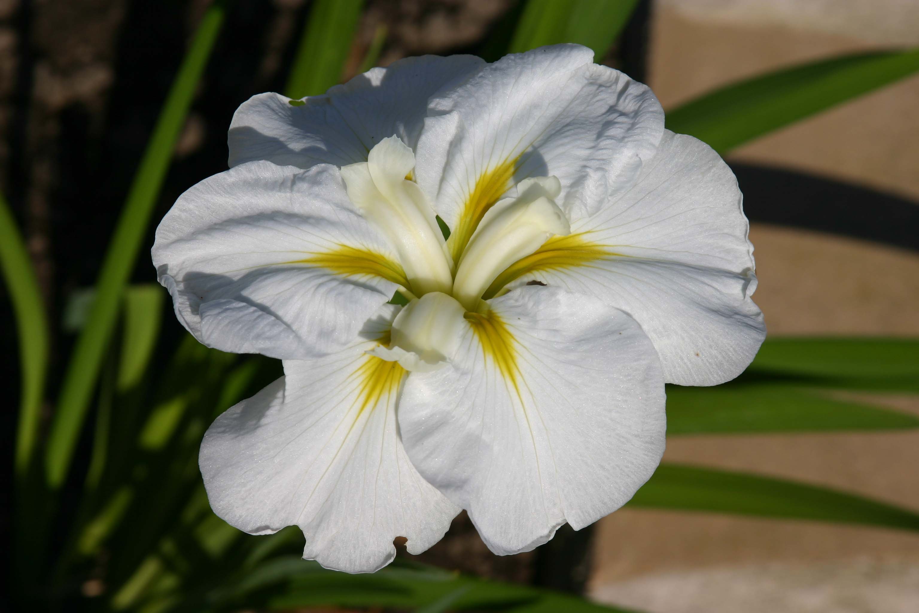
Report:
M 659 0 L 650 85 L 664 108 L 834 54 L 919 44 L 919 2 Z M 751 142 L 730 159 L 919 202 L 919 77 Z M 919 232 L 919 229 L 917 229 Z M 753 224 L 770 335 L 919 336 L 919 255 Z M 910 396 L 872 398 L 919 413 Z M 919 433 L 671 437 L 666 461 L 754 471 L 919 509 Z M 919 535 L 663 511 L 602 520 L 592 594 L 652 613 L 919 610 Z

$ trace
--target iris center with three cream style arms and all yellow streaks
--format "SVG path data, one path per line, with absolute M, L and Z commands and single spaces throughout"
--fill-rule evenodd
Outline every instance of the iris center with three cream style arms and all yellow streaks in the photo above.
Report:
M 529 273 L 584 266 L 613 255 L 585 233 L 570 235 L 569 222 L 555 203 L 562 191 L 556 177 L 523 179 L 516 195 L 502 199 L 515 187 L 517 159 L 482 173 L 446 241 L 434 208 L 414 183 L 414 152 L 398 138 L 375 145 L 367 163 L 342 168 L 348 197 L 387 237 L 399 264 L 348 247 L 313 255 L 309 263 L 345 275 L 376 274 L 398 284 L 410 299 L 392 324 L 391 340 L 370 350 L 361 367 L 370 397 L 398 385 L 392 381 L 401 380 L 406 369 L 440 368 L 470 327 L 484 358 L 519 395 L 514 337 L 482 299 Z

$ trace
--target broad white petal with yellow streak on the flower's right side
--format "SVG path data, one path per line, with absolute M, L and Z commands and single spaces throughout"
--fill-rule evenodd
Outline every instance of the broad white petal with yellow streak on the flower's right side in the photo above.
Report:
M 718 153 L 666 131 L 634 187 L 521 260 L 528 272 L 508 287 L 536 279 L 629 312 L 657 348 L 667 382 L 732 380 L 766 336 L 742 200 Z

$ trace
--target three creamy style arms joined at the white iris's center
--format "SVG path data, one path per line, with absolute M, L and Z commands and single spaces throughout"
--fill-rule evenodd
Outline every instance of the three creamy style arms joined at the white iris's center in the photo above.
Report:
M 487 312 L 482 294 L 507 267 L 571 226 L 555 204 L 555 176 L 524 179 L 517 195 L 482 216 L 454 267 L 424 192 L 408 180 L 414 153 L 396 136 L 377 143 L 368 161 L 342 167 L 348 198 L 399 255 L 410 301 L 392 324 L 390 346 L 370 353 L 404 369 L 436 369 L 456 348 L 465 312 Z M 454 274 L 454 270 L 456 271 Z

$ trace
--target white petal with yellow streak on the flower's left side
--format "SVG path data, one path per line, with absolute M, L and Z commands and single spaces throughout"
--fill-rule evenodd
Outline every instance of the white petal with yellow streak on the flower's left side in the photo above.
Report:
M 191 187 L 156 229 L 153 265 L 207 346 L 308 358 L 349 344 L 401 267 L 331 165 L 252 162 Z

